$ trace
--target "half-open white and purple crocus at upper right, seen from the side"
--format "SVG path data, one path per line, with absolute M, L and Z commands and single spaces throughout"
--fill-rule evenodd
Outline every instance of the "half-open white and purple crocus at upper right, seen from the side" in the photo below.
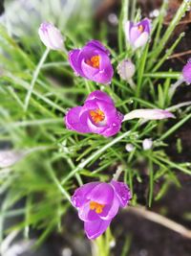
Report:
M 125 24 L 126 39 L 135 49 L 148 41 L 150 32 L 151 21 L 148 18 L 144 18 L 136 24 L 132 21 L 127 21 Z

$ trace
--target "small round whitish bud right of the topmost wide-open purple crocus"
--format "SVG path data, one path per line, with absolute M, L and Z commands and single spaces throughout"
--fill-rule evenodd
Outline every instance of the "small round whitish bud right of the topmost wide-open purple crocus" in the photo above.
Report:
M 136 67 L 131 60 L 123 59 L 117 65 L 117 73 L 122 80 L 128 81 L 130 80 L 136 72 Z

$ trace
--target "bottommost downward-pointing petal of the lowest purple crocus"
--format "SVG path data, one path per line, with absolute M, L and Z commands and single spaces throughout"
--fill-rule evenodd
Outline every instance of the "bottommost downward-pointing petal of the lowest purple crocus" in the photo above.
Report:
M 84 222 L 84 229 L 87 237 L 89 239 L 96 239 L 105 232 L 110 223 L 111 221 L 103 221 L 100 219 L 98 221 Z

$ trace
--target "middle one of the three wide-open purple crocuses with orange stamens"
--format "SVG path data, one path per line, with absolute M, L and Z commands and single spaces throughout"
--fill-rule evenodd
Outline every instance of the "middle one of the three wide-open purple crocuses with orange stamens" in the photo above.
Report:
M 102 91 L 92 92 L 84 105 L 74 106 L 65 116 L 66 127 L 81 133 L 97 133 L 105 137 L 115 135 L 121 128 L 123 115 L 113 100 Z

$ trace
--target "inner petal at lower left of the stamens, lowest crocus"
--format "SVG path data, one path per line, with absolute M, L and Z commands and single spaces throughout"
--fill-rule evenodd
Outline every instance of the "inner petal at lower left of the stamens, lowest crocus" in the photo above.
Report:
M 98 221 L 99 217 L 94 210 L 90 209 L 90 201 L 79 208 L 78 217 L 81 221 Z

